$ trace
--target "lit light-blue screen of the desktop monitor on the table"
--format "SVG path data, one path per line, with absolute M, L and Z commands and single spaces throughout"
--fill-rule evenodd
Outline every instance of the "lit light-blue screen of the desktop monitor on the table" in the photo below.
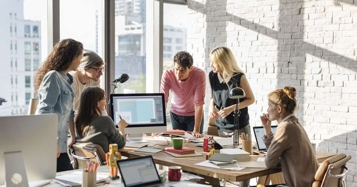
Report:
M 129 125 L 163 124 L 164 112 L 161 95 L 114 96 L 114 123 L 121 119 Z

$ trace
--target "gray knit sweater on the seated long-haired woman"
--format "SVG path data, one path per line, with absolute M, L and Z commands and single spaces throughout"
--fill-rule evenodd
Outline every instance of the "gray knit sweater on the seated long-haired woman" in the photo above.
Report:
M 119 133 L 109 116 L 98 116 L 92 120 L 84 138 L 76 137 L 77 141 L 92 142 L 100 145 L 104 153 L 109 152 L 109 144 L 117 143 L 118 149 L 125 146 L 125 137 Z

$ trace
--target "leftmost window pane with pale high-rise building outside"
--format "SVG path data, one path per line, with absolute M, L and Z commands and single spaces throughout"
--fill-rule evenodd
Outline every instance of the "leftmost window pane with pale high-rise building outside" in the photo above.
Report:
M 7 101 L 0 105 L 0 116 L 27 114 L 28 100 L 25 97 L 34 95 L 31 78 L 34 74 L 34 56 L 31 54 L 40 54 L 41 23 L 44 23 L 41 19 L 47 15 L 47 3 L 43 1 L 0 0 L 1 12 L 6 15 L 1 17 L 3 21 L 0 22 L 0 28 L 3 28 L 0 31 L 0 49 L 4 62 L 0 97 Z M 35 58 L 37 62 L 41 59 L 39 55 L 35 55 Z

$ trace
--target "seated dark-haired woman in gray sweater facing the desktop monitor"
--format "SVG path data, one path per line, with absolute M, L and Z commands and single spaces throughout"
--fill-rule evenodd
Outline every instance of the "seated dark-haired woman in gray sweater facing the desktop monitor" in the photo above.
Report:
M 121 149 L 125 146 L 125 131 L 128 126 L 124 120 L 118 123 L 119 131 L 109 116 L 102 116 L 106 105 L 104 90 L 90 86 L 81 94 L 81 104 L 75 121 L 77 141 L 92 142 L 100 145 L 104 152 L 109 152 L 109 144 L 116 143 Z

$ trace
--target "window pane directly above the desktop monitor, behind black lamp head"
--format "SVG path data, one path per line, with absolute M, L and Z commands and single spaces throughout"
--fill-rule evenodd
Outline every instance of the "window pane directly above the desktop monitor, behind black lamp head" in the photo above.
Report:
M 146 0 L 115 0 L 115 78 L 130 79 L 116 93 L 146 93 Z

